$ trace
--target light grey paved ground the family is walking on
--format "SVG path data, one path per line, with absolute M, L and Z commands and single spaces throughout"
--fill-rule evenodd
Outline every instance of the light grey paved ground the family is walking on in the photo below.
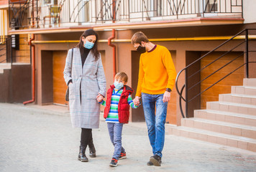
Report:
M 256 153 L 174 135 L 165 135 L 162 166 L 146 166 L 152 153 L 145 123 L 124 125 L 127 159 L 111 168 L 114 148 L 102 118 L 93 130 L 97 157 L 81 163 L 80 134 L 65 107 L 0 103 L 0 171 L 256 171 Z

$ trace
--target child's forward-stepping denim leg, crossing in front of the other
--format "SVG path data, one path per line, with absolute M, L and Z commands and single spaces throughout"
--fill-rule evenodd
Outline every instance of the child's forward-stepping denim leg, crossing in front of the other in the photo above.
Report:
M 122 151 L 122 123 L 114 123 L 114 154 L 113 158 L 119 159 Z M 124 148 L 123 148 L 124 149 Z

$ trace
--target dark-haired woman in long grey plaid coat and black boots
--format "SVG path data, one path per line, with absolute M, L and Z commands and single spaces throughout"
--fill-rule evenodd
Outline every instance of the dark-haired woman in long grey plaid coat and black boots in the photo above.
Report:
M 63 72 L 69 87 L 71 122 L 73 127 L 81 128 L 78 160 L 82 162 L 88 162 L 87 145 L 89 156 L 96 157 L 91 133 L 92 128 L 99 128 L 100 104 L 96 97 L 106 94 L 106 78 L 97 40 L 98 35 L 93 29 L 83 32 L 78 45 L 68 50 Z

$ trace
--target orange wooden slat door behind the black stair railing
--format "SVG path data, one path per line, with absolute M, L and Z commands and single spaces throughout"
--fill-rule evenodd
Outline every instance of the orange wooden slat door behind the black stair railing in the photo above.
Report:
M 224 52 L 216 52 L 202 59 L 201 68 L 208 65 L 210 62 L 214 61 L 214 59 L 216 59 L 217 57 L 220 57 L 221 54 L 224 54 Z M 218 70 L 223 65 L 230 62 L 230 60 L 239 56 L 239 54 L 241 54 L 241 52 L 232 52 L 222 57 L 219 61 L 214 62 L 212 65 L 209 65 L 209 67 L 206 67 L 206 69 L 201 71 L 201 80 L 209 76 L 212 72 Z M 201 82 L 201 91 L 205 90 L 207 87 L 211 86 L 212 84 L 220 80 L 222 77 L 228 75 L 229 72 L 232 72 L 243 63 L 244 63 L 244 58 L 239 57 L 234 62 L 227 65 L 227 67 L 224 67 L 219 72 L 216 72 L 216 74 L 207 78 L 206 80 L 204 80 L 204 82 Z M 206 108 L 206 102 L 219 100 L 219 94 L 230 93 L 232 85 L 242 85 L 243 78 L 244 78 L 244 67 L 241 67 L 232 75 L 229 75 L 224 80 L 221 80 L 221 82 L 214 85 L 214 87 L 211 87 L 209 90 L 207 90 L 201 95 L 201 108 L 202 109 Z

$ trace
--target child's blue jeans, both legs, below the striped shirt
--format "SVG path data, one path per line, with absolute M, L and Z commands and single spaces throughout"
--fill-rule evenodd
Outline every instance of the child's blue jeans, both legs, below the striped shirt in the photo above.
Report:
M 124 148 L 122 147 L 123 125 L 123 123 L 108 123 L 109 137 L 111 143 L 114 145 L 113 158 L 116 158 L 116 160 L 119 159 L 121 153 L 125 152 Z

